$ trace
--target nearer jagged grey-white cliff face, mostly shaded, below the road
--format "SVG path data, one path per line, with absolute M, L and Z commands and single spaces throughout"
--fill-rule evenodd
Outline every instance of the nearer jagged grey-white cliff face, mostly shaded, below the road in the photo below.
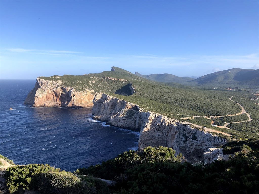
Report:
M 111 125 L 139 130 L 139 150 L 149 145 L 172 147 L 191 162 L 204 159 L 211 162 L 215 156 L 210 158 L 210 154 L 204 153 L 226 143 L 226 139 L 160 114 L 143 112 L 138 105 L 102 93 L 93 99 L 92 114 L 93 118 Z

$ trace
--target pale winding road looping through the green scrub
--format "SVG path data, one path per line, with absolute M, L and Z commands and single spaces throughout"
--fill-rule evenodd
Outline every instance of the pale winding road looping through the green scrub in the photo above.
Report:
M 233 97 L 234 97 L 234 96 L 231 96 L 231 97 L 229 98 L 229 100 L 235 102 L 234 100 L 232 100 Z M 237 103 L 237 102 L 235 102 L 235 103 Z M 253 119 L 252 119 L 251 116 L 244 110 L 244 107 L 242 107 L 239 103 L 237 103 L 237 104 L 238 104 L 238 106 L 241 107 L 241 109 L 242 109 L 241 112 L 240 112 L 240 113 L 236 113 L 236 114 L 234 114 L 234 115 L 226 115 L 226 116 L 236 116 L 236 115 L 246 114 L 249 119 L 248 119 L 247 121 L 236 121 L 236 122 L 232 122 L 232 123 L 241 123 L 241 122 L 252 121 Z M 182 120 L 186 120 L 186 119 L 195 118 L 195 117 L 225 117 L 225 116 L 218 116 L 218 115 L 217 115 L 217 116 L 216 116 L 216 115 L 191 116 L 191 117 L 185 117 L 185 118 L 181 118 L 181 119 L 182 119 Z M 199 128 L 203 128 L 205 131 L 210 131 L 210 132 L 215 132 L 215 133 L 222 133 L 222 134 L 224 134 L 224 135 L 226 135 L 226 136 L 231 136 L 231 135 L 228 134 L 228 133 L 224 133 L 224 132 L 217 131 L 217 130 L 214 130 L 214 129 L 211 129 L 211 128 L 207 128 L 207 127 L 204 128 L 204 127 L 201 126 L 201 125 L 193 124 L 193 123 L 190 123 L 190 122 L 187 122 L 187 121 L 185 121 L 185 123 L 186 123 L 186 124 L 192 124 L 192 125 L 194 125 L 194 126 L 196 126 L 196 127 L 199 127 Z M 228 124 L 230 124 L 230 123 L 226 123 L 224 126 L 217 126 L 217 127 L 230 129 L 230 128 L 227 127 Z M 231 130 L 231 129 L 230 129 L 230 130 Z

